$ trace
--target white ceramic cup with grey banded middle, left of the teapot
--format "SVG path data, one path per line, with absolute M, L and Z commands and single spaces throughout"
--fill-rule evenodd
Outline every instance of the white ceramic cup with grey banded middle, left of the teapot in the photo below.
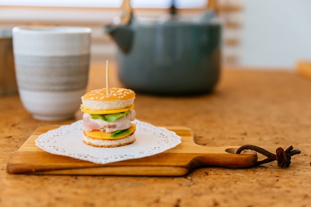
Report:
M 12 29 L 18 92 L 33 118 L 74 117 L 85 93 L 91 29 L 19 26 Z

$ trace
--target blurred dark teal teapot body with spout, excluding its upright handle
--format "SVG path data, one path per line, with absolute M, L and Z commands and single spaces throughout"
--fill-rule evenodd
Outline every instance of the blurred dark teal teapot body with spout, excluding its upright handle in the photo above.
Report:
M 222 23 L 213 12 L 135 18 L 105 26 L 118 46 L 118 76 L 128 88 L 158 95 L 213 90 L 220 77 Z

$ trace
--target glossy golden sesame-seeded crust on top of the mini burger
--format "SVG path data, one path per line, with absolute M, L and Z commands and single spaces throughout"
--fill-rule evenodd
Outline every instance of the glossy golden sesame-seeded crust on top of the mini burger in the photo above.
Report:
M 81 97 L 82 100 L 89 101 L 115 101 L 133 98 L 135 98 L 135 92 L 126 88 L 110 88 L 109 95 L 106 94 L 106 88 L 91 90 Z

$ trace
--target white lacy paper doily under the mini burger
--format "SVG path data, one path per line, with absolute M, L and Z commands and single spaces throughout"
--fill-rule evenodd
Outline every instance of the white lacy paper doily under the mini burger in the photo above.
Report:
M 139 120 L 132 123 L 136 124 L 136 141 L 126 146 L 102 148 L 85 144 L 82 141 L 82 120 L 50 130 L 40 135 L 35 142 L 38 147 L 49 153 L 98 164 L 155 155 L 181 143 L 181 137 L 165 128 Z

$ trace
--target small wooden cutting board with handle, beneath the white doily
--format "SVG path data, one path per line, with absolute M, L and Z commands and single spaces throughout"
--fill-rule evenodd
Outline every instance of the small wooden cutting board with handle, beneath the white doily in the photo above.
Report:
M 7 163 L 11 174 L 56 175 L 134 175 L 181 176 L 201 166 L 250 167 L 257 161 L 255 152 L 235 154 L 237 146 L 208 147 L 195 143 L 193 131 L 185 127 L 166 127 L 181 136 L 181 143 L 162 153 L 108 164 L 95 164 L 48 153 L 35 145 L 39 135 L 60 126 L 38 128 Z

